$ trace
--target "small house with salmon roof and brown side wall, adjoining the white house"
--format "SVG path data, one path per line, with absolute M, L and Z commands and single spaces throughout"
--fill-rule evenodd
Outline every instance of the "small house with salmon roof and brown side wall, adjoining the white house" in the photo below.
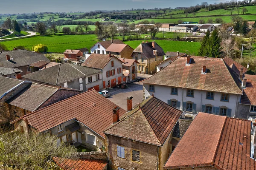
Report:
M 109 47 L 106 49 L 107 54 L 115 55 L 116 57 L 121 57 L 121 58 L 131 58 L 131 54 L 134 51 L 133 48 L 131 48 L 127 44 L 111 44 Z

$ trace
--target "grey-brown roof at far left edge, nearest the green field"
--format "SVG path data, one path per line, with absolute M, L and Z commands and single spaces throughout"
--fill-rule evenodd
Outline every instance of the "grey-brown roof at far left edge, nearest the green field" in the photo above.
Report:
M 10 55 L 11 60 L 6 60 L 6 55 Z M 40 60 L 49 61 L 44 55 L 27 50 L 0 52 L 0 66 L 3 67 L 17 68 Z

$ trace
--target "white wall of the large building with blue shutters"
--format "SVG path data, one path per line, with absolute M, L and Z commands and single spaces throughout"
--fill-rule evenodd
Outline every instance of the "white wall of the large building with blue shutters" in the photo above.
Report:
M 239 99 L 241 95 L 236 94 L 230 94 L 229 102 L 222 102 L 221 101 L 221 94 L 219 92 L 214 92 L 214 100 L 206 99 L 207 97 L 207 91 L 200 91 L 200 90 L 194 90 L 194 97 L 188 97 L 186 96 L 187 89 L 186 88 L 178 88 L 178 94 L 172 95 L 171 94 L 171 87 L 170 86 L 163 86 L 163 85 L 154 85 L 155 91 L 154 91 L 154 97 L 162 100 L 163 102 L 168 102 L 168 100 L 176 99 L 180 102 L 180 109 L 182 110 L 183 102 L 193 102 L 196 104 L 196 112 L 201 112 L 202 105 L 210 104 L 213 107 L 221 107 L 225 106 L 229 109 L 232 109 L 231 111 L 231 117 L 235 116 L 237 103 L 239 102 Z M 149 91 L 149 84 L 143 83 L 143 98 L 146 98 L 148 96 L 152 95 L 152 92 Z

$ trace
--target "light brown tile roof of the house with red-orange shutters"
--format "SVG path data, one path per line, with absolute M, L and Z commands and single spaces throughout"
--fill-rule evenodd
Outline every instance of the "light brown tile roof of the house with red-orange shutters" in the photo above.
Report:
M 109 57 L 108 54 L 93 53 L 81 65 L 86 66 L 86 67 L 91 67 L 91 68 L 103 69 L 113 57 L 115 57 L 115 56 Z M 117 57 L 115 57 L 115 58 L 117 58 Z M 118 61 L 120 61 L 120 60 L 118 59 Z M 120 62 L 122 62 L 122 61 L 120 61 Z

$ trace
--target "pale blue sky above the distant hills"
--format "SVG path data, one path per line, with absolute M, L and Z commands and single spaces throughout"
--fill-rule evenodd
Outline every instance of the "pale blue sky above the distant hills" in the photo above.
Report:
M 202 2 L 213 4 L 225 1 L 227 0 L 0 0 L 0 14 L 175 8 L 195 6 Z

